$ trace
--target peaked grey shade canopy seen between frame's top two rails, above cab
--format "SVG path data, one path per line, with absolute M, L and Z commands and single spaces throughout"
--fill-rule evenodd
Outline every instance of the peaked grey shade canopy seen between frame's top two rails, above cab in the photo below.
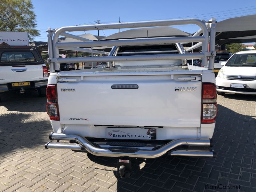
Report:
M 122 32 L 104 37 L 100 39 L 100 41 L 147 38 L 147 37 L 168 37 L 168 36 L 184 37 L 189 35 L 190 33 L 181 31 L 180 29 L 164 26 L 164 27 L 130 29 L 130 30 L 122 31 Z

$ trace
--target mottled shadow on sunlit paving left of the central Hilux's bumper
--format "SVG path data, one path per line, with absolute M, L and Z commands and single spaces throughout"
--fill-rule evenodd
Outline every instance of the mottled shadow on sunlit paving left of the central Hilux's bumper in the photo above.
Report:
M 13 150 L 28 150 L 35 145 L 44 144 L 51 131 L 50 127 L 49 120 L 31 117 L 29 114 L 0 114 L 0 159 L 3 153 L 6 157 L 6 153 Z

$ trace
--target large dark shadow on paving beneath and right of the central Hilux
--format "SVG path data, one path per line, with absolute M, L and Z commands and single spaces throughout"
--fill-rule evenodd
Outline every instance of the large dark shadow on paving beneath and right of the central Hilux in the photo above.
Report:
M 252 184 L 256 182 L 255 119 L 218 105 L 216 122 L 216 158 L 133 158 L 133 174 L 129 179 L 117 177 L 117 191 L 256 191 Z M 88 157 L 98 164 L 117 166 L 117 158 Z

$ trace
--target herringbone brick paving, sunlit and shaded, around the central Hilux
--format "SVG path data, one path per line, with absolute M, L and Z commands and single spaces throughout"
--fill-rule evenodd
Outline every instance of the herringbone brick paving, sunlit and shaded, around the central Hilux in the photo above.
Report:
M 218 96 L 215 159 L 134 160 L 140 170 L 126 180 L 115 158 L 44 149 L 52 129 L 36 92 L 2 99 L 0 191 L 256 191 L 255 96 Z

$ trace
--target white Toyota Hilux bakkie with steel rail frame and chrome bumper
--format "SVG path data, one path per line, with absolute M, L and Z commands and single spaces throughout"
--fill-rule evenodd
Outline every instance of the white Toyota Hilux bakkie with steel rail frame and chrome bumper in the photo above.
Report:
M 189 23 L 199 25 L 204 35 L 57 42 L 58 36 L 65 31 Z M 209 68 L 213 69 L 215 20 L 210 23 L 213 31 L 210 38 L 205 21 L 197 19 L 48 29 L 52 73 L 46 90 L 46 108 L 53 132 L 45 148 L 119 157 L 119 163 L 130 162 L 125 160 L 128 157 L 214 157 L 211 138 L 217 113 L 215 75 L 212 70 L 186 63 L 186 59 L 202 59 L 206 65 L 209 57 Z M 203 51 L 187 53 L 179 43 L 191 41 L 203 42 Z M 108 57 L 58 58 L 58 50 L 62 47 L 77 47 L 83 51 L 79 47 L 107 45 L 113 46 Z M 64 62 L 107 62 L 107 65 L 60 72 L 59 63 Z M 68 102 L 70 98 L 76 101 Z M 125 165 L 119 165 L 120 176 L 127 177 L 123 172 Z

